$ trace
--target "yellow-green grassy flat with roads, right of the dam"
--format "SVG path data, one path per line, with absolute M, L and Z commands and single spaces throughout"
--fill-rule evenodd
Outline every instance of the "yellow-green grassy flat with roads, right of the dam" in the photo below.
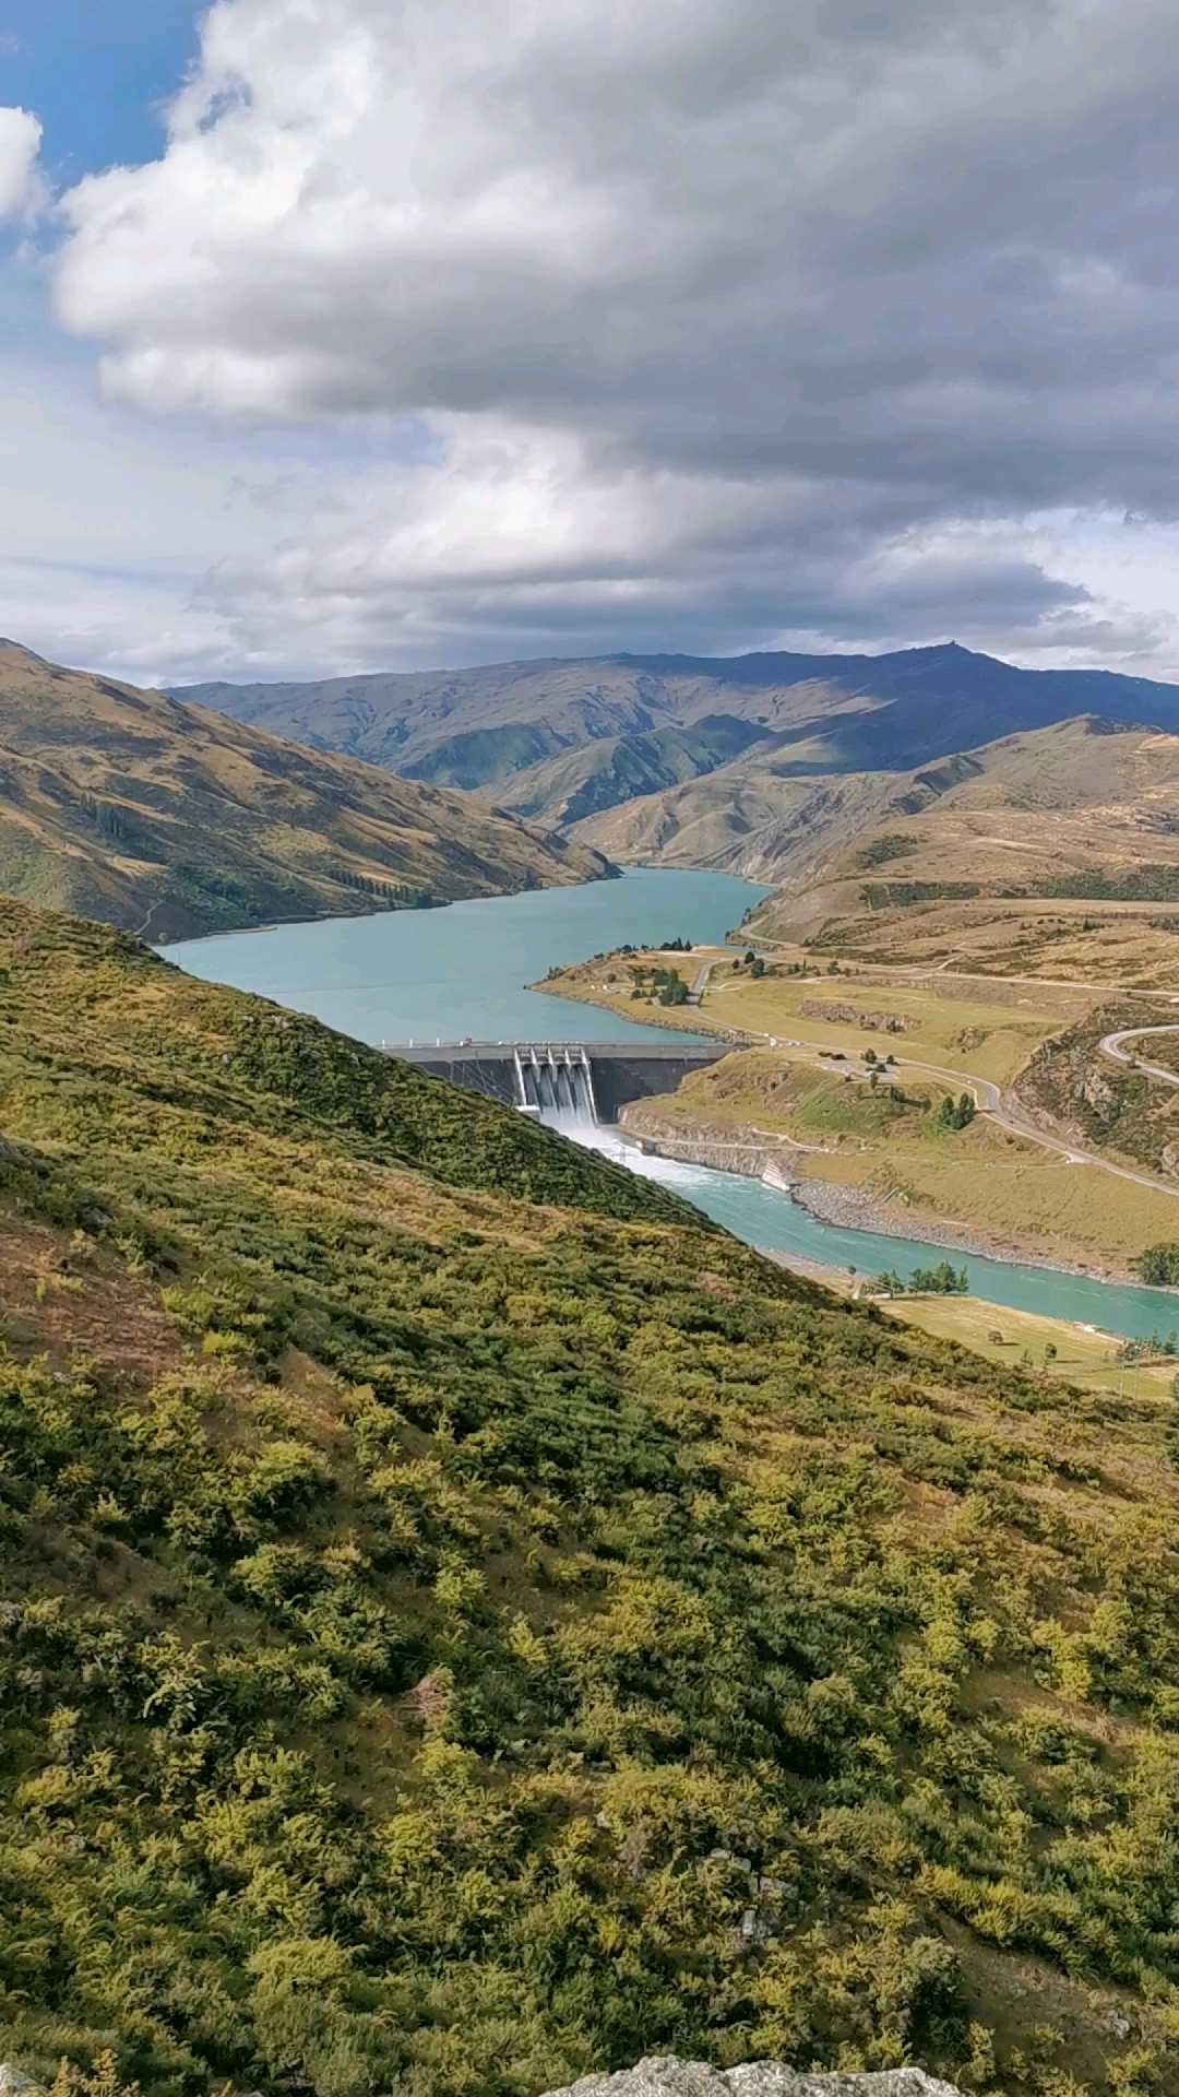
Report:
M 598 958 L 552 990 L 646 1011 L 636 983 L 669 965 L 676 956 Z M 743 1046 L 676 1095 L 625 1109 L 627 1134 L 646 1145 L 701 1162 L 711 1145 L 717 1164 L 726 1145 L 743 1145 L 747 1168 L 772 1166 L 829 1223 L 1108 1277 L 1129 1279 L 1150 1246 L 1179 1233 L 1162 1141 L 1135 1147 L 1099 1118 L 1080 1126 L 1062 1101 L 1045 1103 L 1041 1067 L 1062 1059 L 1057 1042 L 1080 1034 L 1097 1055 L 1097 992 L 883 969 L 793 973 L 806 971 L 801 958 L 753 973 L 732 950 L 701 950 L 682 967 L 701 1002 L 663 1009 L 661 1023 Z M 1143 1025 L 1150 1017 L 1143 1004 Z M 1145 1084 L 1129 1067 L 1122 1082 Z M 955 1130 L 938 1107 L 961 1093 L 978 1111 Z

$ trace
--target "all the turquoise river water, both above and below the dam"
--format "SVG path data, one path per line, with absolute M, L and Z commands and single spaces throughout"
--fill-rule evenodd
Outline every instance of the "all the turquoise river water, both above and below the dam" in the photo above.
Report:
M 168 948 L 168 960 L 206 981 L 256 990 L 277 1004 L 313 1013 L 344 1034 L 380 1042 L 462 1040 L 661 1040 L 667 1032 L 619 1019 L 571 998 L 527 990 L 550 967 L 587 960 L 627 942 L 657 944 L 684 935 L 724 939 L 766 889 L 732 874 L 636 868 L 621 881 L 581 889 L 533 889 L 445 910 L 396 910 L 363 918 L 277 925 L 264 933 L 227 933 Z M 686 1036 L 690 1038 L 690 1036 Z M 1150 1338 L 1179 1325 L 1179 1298 L 1089 1281 L 1057 1269 L 946 1254 L 910 1237 L 845 1231 L 820 1223 L 787 1193 L 732 1172 L 644 1158 L 615 1130 L 596 1147 L 636 1172 L 659 1179 L 703 1208 L 736 1237 L 766 1252 L 902 1275 L 952 1258 L 969 1290 L 1013 1311 L 1099 1325 Z

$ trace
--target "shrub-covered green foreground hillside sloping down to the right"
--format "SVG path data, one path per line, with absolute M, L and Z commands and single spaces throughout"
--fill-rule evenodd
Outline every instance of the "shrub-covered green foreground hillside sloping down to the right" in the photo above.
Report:
M 1169 1399 L 0 900 L 0 2055 L 1179 2074 Z

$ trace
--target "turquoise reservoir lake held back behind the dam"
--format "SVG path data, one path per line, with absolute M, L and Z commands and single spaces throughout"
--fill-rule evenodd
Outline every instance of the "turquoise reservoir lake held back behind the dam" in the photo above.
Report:
M 185 939 L 168 948 L 168 960 L 212 983 L 258 990 L 363 1042 L 665 1042 L 661 1028 L 524 983 L 625 944 L 724 939 L 766 893 L 734 874 L 636 868 L 581 889 Z

